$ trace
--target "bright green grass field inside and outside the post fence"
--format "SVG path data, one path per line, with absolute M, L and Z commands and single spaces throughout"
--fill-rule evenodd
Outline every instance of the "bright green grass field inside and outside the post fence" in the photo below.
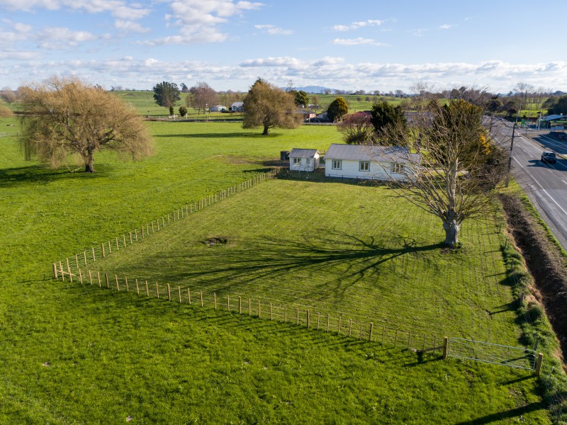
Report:
M 550 423 L 526 371 L 419 361 L 403 347 L 50 279 L 52 261 L 266 171 L 280 150 L 326 149 L 339 141 L 335 128 L 260 137 L 230 123 L 148 123 L 153 157 L 99 154 L 98 172 L 85 175 L 23 162 L 9 123 L 0 120 L 9 132 L 0 138 L 0 423 Z M 519 344 L 495 226 L 466 225 L 458 253 L 442 253 L 441 233 L 386 188 L 281 179 L 105 266 Z M 218 235 L 229 243 L 201 243 Z

